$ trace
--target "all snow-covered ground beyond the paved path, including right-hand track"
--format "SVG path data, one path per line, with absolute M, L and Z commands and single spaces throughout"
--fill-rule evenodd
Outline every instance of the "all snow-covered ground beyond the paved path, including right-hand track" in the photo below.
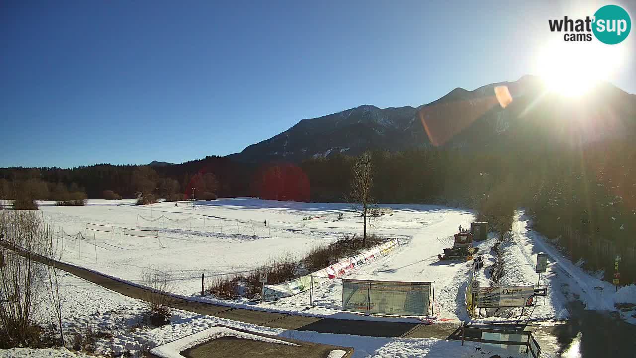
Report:
M 347 278 L 434 281 L 433 313 L 438 315 L 438 319 L 467 320 L 464 292 L 470 264 L 439 262 L 437 255 L 443 252 L 443 248 L 452 245 L 452 234 L 457 233 L 459 225 L 469 227 L 474 220 L 473 213 L 433 205 L 383 206 L 391 207 L 394 215 L 374 218 L 370 232 L 399 238 L 403 245 L 387 256 L 357 267 L 347 274 Z M 331 243 L 343 234 L 360 234 L 362 229 L 362 218 L 348 204 L 237 198 L 197 202 L 194 206 L 192 203 L 137 206 L 133 201 L 90 200 L 85 207 L 43 203 L 40 208 L 45 220 L 53 226 L 72 235 L 81 231 L 87 239 L 73 240 L 60 233 L 58 244 L 60 248 L 64 247 L 63 261 L 135 283 L 142 283 L 141 273 L 146 269 L 169 271 L 174 278 L 174 292 L 193 299 L 200 299 L 197 296 L 202 273 L 211 278 L 253 269 L 280 255 L 300 257 L 314 245 Z M 338 219 L 340 213 L 343 214 L 342 219 Z M 308 216 L 317 218 L 303 220 Z M 87 222 L 114 226 L 114 231 L 86 229 Z M 615 300 L 630 296 L 631 291 L 627 292 L 631 290 L 629 287 L 623 289 L 623 293 L 619 290 L 614 294 L 609 283 L 584 273 L 546 244 L 544 238 L 531 231 L 529 226 L 530 220 L 520 211 L 513 230 L 513 241 L 504 244 L 508 262 L 504 283 L 535 285 L 538 277 L 534 272 L 536 254 L 546 252 L 550 255 L 548 271 L 541 282 L 548 285 L 548 297 L 537 299 L 537 305 L 530 311 L 530 319 L 567 318 L 567 298 L 563 289 L 566 292 L 567 289 L 573 290 L 583 297 L 588 307 L 594 309 L 612 309 Z M 123 234 L 122 228 L 156 230 L 159 237 L 130 236 Z M 476 243 L 485 255 L 486 266 L 490 264 L 489 252 L 494 243 L 495 239 Z M 487 285 L 483 269 L 478 280 L 483 282 L 482 286 Z M 303 315 L 387 319 L 334 311 L 342 306 L 342 284 L 337 279 L 314 289 L 312 297 L 316 307 L 310 310 L 306 309 L 309 292 L 261 304 L 240 299 L 223 301 L 214 297 L 204 300 Z

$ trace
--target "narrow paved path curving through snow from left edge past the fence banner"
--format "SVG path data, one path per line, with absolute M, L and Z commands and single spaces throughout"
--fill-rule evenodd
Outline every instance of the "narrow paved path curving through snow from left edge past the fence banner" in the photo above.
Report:
M 28 255 L 11 247 L 6 241 L 0 241 L 0 245 L 11 250 L 16 250 L 22 255 Z M 48 263 L 48 259 L 34 256 L 34 260 Z M 106 289 L 113 290 L 128 297 L 144 299 L 147 290 L 141 289 L 126 282 L 109 278 L 99 273 L 88 271 L 57 262 L 56 266 L 68 273 L 79 276 L 87 281 L 97 283 Z M 243 308 L 231 308 L 219 304 L 188 301 L 186 299 L 170 296 L 169 306 L 179 310 L 191 311 L 202 315 L 220 317 L 223 319 L 237 320 L 240 322 L 256 324 L 258 326 L 293 329 L 296 331 L 316 331 L 320 333 L 356 334 L 359 336 L 374 337 L 409 337 L 409 338 L 446 338 L 459 327 L 452 322 L 440 322 L 437 324 L 415 324 L 402 322 L 383 322 L 368 320 L 345 320 L 301 315 L 289 315 L 266 311 L 246 310 Z

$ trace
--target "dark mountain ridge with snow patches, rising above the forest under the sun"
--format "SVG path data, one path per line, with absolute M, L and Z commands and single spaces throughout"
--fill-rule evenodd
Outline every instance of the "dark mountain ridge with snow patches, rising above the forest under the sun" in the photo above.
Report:
M 496 87 L 507 89 L 499 99 Z M 571 99 L 551 94 L 536 76 L 523 76 L 475 90 L 457 88 L 417 108 L 363 105 L 303 119 L 230 157 L 244 162 L 299 162 L 337 153 L 357 155 L 368 149 L 480 148 L 535 136 L 544 140 L 543 130 L 548 138 L 561 136 L 555 143 L 574 138 L 581 143 L 625 134 L 616 130 L 621 126 L 633 130 L 635 113 L 636 96 L 609 83 L 598 85 L 586 97 Z M 555 133 L 555 128 L 561 132 Z

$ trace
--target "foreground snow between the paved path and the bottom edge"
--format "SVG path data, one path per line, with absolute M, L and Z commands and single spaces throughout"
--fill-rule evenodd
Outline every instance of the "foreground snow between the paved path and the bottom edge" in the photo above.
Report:
M 69 335 L 73 329 L 80 331 L 79 328 L 86 326 L 93 327 L 93 330 L 97 327 L 108 331 L 112 334 L 112 338 L 102 338 L 94 343 L 95 353 L 107 356 L 118 355 L 126 350 L 135 356 L 142 351 L 151 350 L 153 354 L 161 357 L 179 357 L 176 355 L 177 352 L 220 336 L 240 336 L 241 338 L 281 343 L 275 338 L 242 333 L 232 328 L 336 347 L 352 347 L 355 350 L 354 358 L 483 357 L 478 349 L 481 349 L 481 352 L 487 352 L 486 357 L 493 354 L 499 354 L 502 357 L 522 356 L 471 342 L 466 342 L 465 346 L 462 347 L 460 341 L 446 341 L 436 338 L 375 338 L 349 334 L 294 331 L 256 326 L 182 310 L 172 310 L 172 322 L 155 328 L 138 324 L 137 318 L 141 317 L 144 312 L 142 301 L 123 296 L 67 273 L 63 274 L 60 290 L 62 296 L 66 297 L 63 306 L 66 334 Z M 113 312 L 119 311 L 123 307 L 127 307 L 127 319 L 122 320 Z M 45 315 L 40 315 L 38 319 L 45 322 L 47 318 Z M 216 327 L 218 325 L 229 328 Z M 133 326 L 135 329 L 132 328 Z M 336 354 L 335 352 L 338 351 L 343 352 L 342 350 L 334 350 L 332 353 Z M 88 358 L 92 356 L 64 349 L 13 348 L 0 350 L 0 358 L 8 357 Z

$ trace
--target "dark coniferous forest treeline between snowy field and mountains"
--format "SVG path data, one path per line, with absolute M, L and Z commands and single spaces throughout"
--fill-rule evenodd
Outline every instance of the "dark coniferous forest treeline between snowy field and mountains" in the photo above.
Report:
M 524 208 L 534 229 L 573 261 L 583 259 L 590 269 L 605 269 L 605 279 L 611 280 L 613 257 L 620 254 L 621 282 L 636 278 L 636 146 L 627 140 L 585 147 L 429 148 L 372 155 L 377 203 L 475 208 L 478 218 L 490 222 Z M 257 165 L 209 156 L 155 167 L 3 168 L 0 190 L 4 199 L 25 190 L 36 200 L 58 200 L 65 191 L 85 192 L 89 199 L 152 194 L 179 200 L 191 197 L 195 188 L 218 197 L 346 202 L 354 159 L 336 154 L 300 164 Z M 492 227 L 510 230 L 505 227 L 509 223 L 501 225 Z

